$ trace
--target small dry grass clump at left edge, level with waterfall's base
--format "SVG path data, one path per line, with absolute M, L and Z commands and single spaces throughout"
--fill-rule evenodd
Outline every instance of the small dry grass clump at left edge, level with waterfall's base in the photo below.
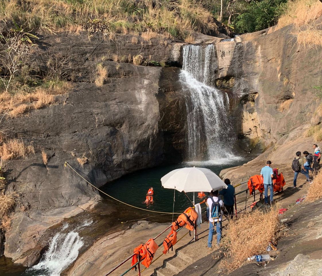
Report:
M 10 139 L 0 146 L 0 158 L 2 160 L 11 160 L 15 158 L 26 158 L 28 154 L 35 153 L 32 145 L 25 146 L 23 141 Z

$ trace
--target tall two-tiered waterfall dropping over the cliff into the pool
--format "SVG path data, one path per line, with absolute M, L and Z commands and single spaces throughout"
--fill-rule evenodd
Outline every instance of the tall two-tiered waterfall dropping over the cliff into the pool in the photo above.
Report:
M 185 45 L 180 81 L 186 92 L 189 161 L 225 163 L 231 152 L 232 124 L 227 93 L 212 87 L 216 53 L 214 45 Z

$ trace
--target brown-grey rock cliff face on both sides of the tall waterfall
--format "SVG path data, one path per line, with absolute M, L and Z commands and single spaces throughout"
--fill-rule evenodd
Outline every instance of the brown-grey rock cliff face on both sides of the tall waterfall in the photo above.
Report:
M 310 122 L 319 105 L 311 87 L 321 83 L 321 49 L 298 48 L 290 27 L 245 34 L 232 42 L 196 36 L 197 43 L 203 41 L 215 45 L 213 85 L 231 97 L 242 149 L 267 147 Z M 32 143 L 36 153 L 8 164 L 14 180 L 6 192 L 19 191 L 20 210 L 28 212 L 16 208 L 12 230 L 6 233 L 7 257 L 31 265 L 37 256 L 28 259 L 26 252 L 48 227 L 99 199 L 64 167 L 65 161 L 99 187 L 126 173 L 185 158 L 185 91 L 178 81 L 182 45 L 131 35 L 110 40 L 98 33 L 62 33 L 39 41 L 33 49 L 35 72 L 42 76 L 54 59 L 68 68 L 65 76 L 72 89 L 60 104 L 11 122 L 16 137 Z M 133 56 L 148 65 L 172 67 L 136 66 L 128 63 Z M 101 87 L 94 84 L 98 64 L 108 70 Z M 41 150 L 50 157 L 46 166 Z M 82 156 L 89 159 L 83 166 L 76 160 Z M 57 219 L 53 208 L 61 208 Z

